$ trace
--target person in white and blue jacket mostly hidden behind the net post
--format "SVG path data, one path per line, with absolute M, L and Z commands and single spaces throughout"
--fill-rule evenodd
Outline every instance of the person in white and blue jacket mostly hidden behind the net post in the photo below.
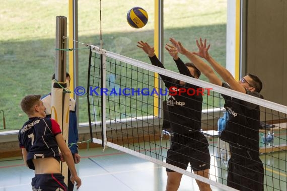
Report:
M 53 74 L 52 79 L 55 79 L 55 74 Z M 70 82 L 70 75 L 66 72 L 66 80 Z M 41 100 L 44 103 L 46 108 L 46 118 L 51 118 L 51 93 L 42 97 Z M 79 140 L 78 134 L 78 124 L 77 124 L 77 115 L 76 115 L 76 101 L 73 98 L 69 100 L 69 131 L 68 131 L 68 147 L 73 155 L 75 163 L 79 163 L 81 156 L 78 153 L 78 145 L 76 144 Z M 70 171 L 68 170 L 68 176 L 70 176 Z M 74 184 L 71 181 L 68 181 L 68 190 L 72 191 L 74 189 Z

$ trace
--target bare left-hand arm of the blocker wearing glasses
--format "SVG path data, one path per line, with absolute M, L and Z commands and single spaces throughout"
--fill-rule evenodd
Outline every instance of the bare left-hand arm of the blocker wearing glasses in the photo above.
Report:
M 203 62 L 198 56 L 188 51 L 182 46 L 182 44 L 173 38 L 170 38 L 170 42 L 177 48 L 178 52 L 185 55 L 196 67 L 199 69 L 208 80 L 216 85 L 222 85 L 222 80 L 214 73 L 212 68 Z

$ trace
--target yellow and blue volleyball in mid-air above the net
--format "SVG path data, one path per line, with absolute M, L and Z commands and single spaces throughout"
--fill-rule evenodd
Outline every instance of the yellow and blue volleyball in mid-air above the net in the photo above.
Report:
M 148 23 L 148 13 L 146 10 L 134 7 L 127 12 L 126 20 L 127 23 L 133 28 L 142 28 Z

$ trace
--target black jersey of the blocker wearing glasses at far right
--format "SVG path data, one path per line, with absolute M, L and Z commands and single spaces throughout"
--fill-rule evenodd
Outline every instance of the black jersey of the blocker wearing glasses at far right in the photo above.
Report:
M 223 83 L 222 86 L 230 88 L 227 83 Z M 246 94 L 260 98 L 260 94 L 256 91 L 246 90 Z M 221 139 L 259 152 L 259 106 L 224 94 L 222 96 L 225 99 L 224 107 L 229 114 L 229 120 L 221 134 Z

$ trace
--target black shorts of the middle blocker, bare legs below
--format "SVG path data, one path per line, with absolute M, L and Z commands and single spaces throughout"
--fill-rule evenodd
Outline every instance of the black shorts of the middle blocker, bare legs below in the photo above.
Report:
M 193 171 L 209 169 L 210 154 L 207 139 L 200 132 L 190 133 L 187 136 L 173 135 L 166 162 L 185 170 L 188 162 Z M 168 168 L 166 171 L 173 172 Z

